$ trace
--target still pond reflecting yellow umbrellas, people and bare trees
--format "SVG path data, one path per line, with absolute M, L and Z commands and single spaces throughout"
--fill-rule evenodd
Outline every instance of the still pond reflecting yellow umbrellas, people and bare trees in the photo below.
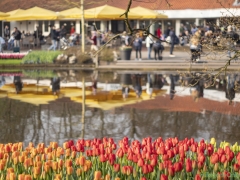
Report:
M 124 136 L 238 141 L 240 76 L 193 74 L 2 72 L 0 143 Z

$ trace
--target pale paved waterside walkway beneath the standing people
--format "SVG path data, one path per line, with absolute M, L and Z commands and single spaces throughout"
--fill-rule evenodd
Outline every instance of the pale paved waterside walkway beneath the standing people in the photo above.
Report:
M 131 60 L 118 60 L 114 64 L 101 65 L 98 69 L 161 69 L 161 70 L 217 70 L 226 65 L 229 58 L 226 52 L 203 52 L 200 61 L 191 63 L 191 54 L 189 47 L 176 47 L 174 51 L 175 57 L 169 57 L 169 48 L 165 48 L 163 52 L 163 60 L 149 60 L 147 50 L 142 51 L 142 61 L 135 60 L 135 51 L 132 51 Z M 151 53 L 152 58 L 154 52 Z M 231 70 L 240 70 L 240 60 L 232 61 Z

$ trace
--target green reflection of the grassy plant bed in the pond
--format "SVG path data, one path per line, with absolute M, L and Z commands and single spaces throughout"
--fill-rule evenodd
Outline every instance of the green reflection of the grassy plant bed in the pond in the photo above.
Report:
M 23 70 L 24 77 L 30 78 L 52 78 L 56 77 L 56 72 L 53 70 Z

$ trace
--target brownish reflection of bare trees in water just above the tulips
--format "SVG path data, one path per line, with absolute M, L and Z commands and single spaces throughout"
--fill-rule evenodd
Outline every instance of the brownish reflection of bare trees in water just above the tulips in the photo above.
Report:
M 33 106 L 15 100 L 0 99 L 0 140 L 3 143 L 29 141 L 63 143 L 80 138 L 81 104 L 59 99 L 48 105 Z M 168 112 L 161 109 L 116 108 L 103 111 L 86 108 L 84 138 L 124 136 L 142 139 L 151 136 L 179 139 L 193 137 L 235 142 L 240 138 L 240 118 L 216 112 Z

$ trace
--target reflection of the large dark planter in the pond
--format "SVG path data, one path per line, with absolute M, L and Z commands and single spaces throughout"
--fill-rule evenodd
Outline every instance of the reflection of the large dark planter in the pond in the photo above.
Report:
M 122 86 L 123 99 L 126 99 L 128 97 L 128 94 L 130 92 L 130 88 L 132 85 L 131 74 L 121 74 L 120 75 L 120 84 Z

